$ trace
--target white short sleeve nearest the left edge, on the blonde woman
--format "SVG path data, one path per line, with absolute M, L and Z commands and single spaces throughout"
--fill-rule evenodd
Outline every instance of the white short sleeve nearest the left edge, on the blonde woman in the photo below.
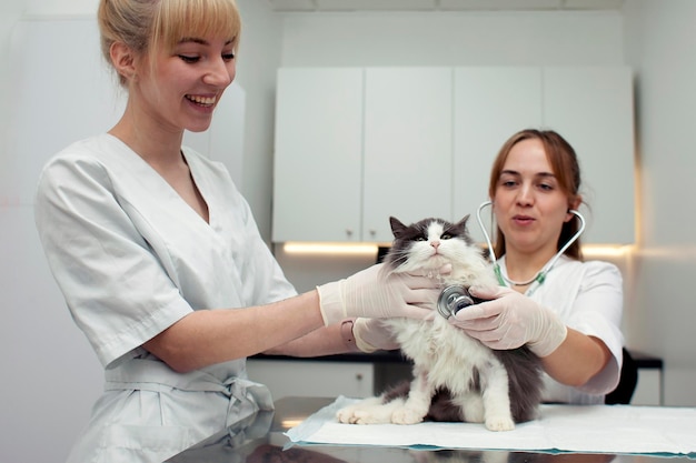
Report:
M 191 312 L 99 161 L 79 151 L 51 160 L 34 214 L 49 266 L 102 365 Z

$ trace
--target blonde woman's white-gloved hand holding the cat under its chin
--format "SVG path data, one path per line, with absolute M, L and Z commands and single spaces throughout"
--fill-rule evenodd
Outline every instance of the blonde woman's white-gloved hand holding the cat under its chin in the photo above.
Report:
M 436 278 L 389 273 L 382 269 L 384 264 L 372 265 L 347 279 L 317 286 L 324 323 L 328 326 L 354 316 L 424 319 L 431 313 L 440 292 Z

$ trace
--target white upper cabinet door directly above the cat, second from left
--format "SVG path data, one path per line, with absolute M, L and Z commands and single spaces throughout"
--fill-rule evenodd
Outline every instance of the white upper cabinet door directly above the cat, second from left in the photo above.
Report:
M 451 68 L 368 68 L 362 239 L 451 214 Z

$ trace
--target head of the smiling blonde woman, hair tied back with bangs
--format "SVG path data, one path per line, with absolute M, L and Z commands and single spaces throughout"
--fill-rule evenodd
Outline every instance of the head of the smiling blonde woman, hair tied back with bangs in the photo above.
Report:
M 235 0 L 101 0 L 98 21 L 102 52 L 128 88 L 122 139 L 161 144 L 210 125 L 236 72 Z

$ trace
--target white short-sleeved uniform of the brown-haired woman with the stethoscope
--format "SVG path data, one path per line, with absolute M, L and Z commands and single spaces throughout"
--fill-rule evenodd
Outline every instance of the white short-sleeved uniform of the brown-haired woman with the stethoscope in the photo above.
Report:
M 507 276 L 505 256 L 499 261 Z M 563 255 L 530 299 L 558 313 L 566 326 L 604 341 L 612 352 L 609 363 L 587 384 L 564 385 L 545 374 L 543 400 L 573 404 L 604 403 L 618 384 L 623 364 L 623 279 L 616 265 L 601 261 L 580 262 Z

